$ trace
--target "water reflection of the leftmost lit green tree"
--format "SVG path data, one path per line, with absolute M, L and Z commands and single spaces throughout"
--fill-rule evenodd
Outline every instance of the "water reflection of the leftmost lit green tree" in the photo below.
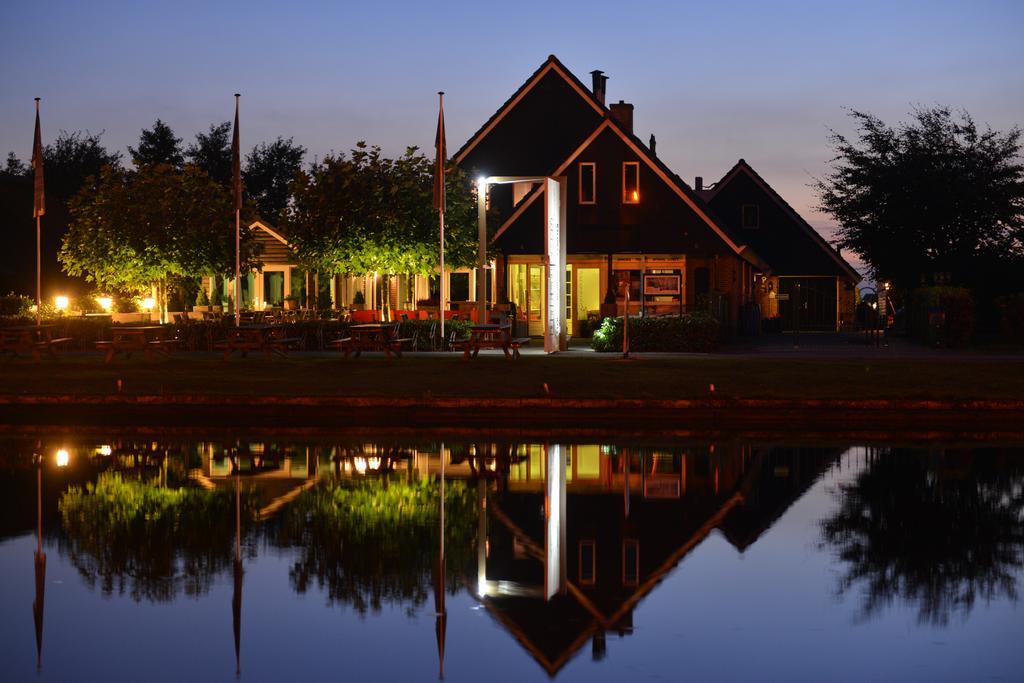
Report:
M 202 595 L 233 559 L 234 492 L 163 488 L 100 474 L 60 499 L 60 551 L 106 595 L 168 601 Z M 243 495 L 243 522 L 255 502 Z

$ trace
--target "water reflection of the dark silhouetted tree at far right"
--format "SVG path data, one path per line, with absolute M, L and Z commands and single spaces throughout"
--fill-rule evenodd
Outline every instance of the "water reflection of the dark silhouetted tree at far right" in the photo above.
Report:
M 979 597 L 1017 599 L 1024 470 L 992 458 L 886 453 L 840 487 L 822 538 L 846 563 L 841 592 L 864 590 L 864 617 L 898 598 L 921 623 L 944 625 Z

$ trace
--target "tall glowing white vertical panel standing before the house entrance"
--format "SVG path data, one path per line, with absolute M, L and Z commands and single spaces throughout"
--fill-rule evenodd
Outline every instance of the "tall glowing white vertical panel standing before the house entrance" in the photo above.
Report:
M 544 180 L 545 301 L 544 352 L 554 353 L 565 348 L 565 220 L 562 208 L 564 178 Z

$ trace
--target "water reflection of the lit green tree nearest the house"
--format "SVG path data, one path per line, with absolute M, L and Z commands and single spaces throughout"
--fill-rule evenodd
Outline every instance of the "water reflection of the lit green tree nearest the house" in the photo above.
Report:
M 439 545 L 440 484 L 359 479 L 324 482 L 303 494 L 280 519 L 275 543 L 299 549 L 292 586 L 305 593 L 312 582 L 331 603 L 358 612 L 385 602 L 423 604 Z M 444 496 L 444 544 L 449 590 L 475 561 L 476 494 L 449 481 Z

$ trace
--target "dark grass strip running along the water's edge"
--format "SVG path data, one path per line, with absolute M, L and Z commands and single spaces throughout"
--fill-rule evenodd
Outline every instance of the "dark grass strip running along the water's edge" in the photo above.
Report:
M 622 360 L 612 354 L 169 359 L 65 356 L 0 361 L 0 393 L 520 398 L 936 398 L 1024 399 L 1024 360 L 779 359 L 728 356 Z

